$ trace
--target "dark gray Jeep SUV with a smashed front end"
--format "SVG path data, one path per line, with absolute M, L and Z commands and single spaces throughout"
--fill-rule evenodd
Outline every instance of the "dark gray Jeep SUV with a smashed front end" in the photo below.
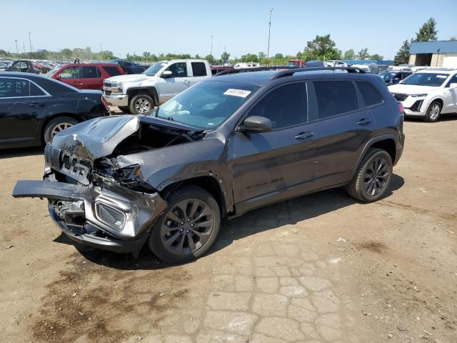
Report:
M 402 109 L 376 75 L 233 72 L 148 115 L 56 134 L 44 181 L 19 181 L 13 196 L 49 199 L 52 219 L 76 242 L 133 254 L 148 244 L 182 263 L 208 251 L 222 219 L 266 204 L 333 187 L 380 199 L 403 142 Z

